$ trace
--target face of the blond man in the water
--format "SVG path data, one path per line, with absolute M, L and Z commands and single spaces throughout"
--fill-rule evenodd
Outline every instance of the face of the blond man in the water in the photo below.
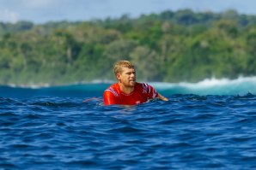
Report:
M 122 85 L 134 87 L 136 84 L 136 72 L 134 68 L 123 67 L 122 73 L 117 73 L 117 78 Z

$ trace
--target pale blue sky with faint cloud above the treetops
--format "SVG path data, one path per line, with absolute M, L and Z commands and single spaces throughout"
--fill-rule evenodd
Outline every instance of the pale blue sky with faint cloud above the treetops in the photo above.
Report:
M 223 12 L 256 15 L 256 0 L 0 0 L 0 22 L 90 21 L 129 15 L 158 14 L 164 10 Z

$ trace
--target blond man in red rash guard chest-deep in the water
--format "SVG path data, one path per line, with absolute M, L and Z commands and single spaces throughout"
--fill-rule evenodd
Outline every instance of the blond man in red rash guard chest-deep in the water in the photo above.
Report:
M 135 105 L 145 103 L 153 98 L 168 101 L 168 98 L 155 91 L 151 85 L 136 82 L 136 71 L 131 62 L 116 62 L 113 69 L 118 82 L 104 91 L 103 100 L 105 105 Z

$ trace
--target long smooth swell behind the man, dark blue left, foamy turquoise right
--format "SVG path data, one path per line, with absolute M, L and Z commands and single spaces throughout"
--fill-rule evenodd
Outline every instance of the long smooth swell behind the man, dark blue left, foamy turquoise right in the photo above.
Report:
M 91 82 L 72 85 L 2 85 L 0 97 L 101 97 L 103 91 L 113 82 Z M 256 94 L 256 77 L 238 79 L 204 79 L 198 83 L 149 82 L 164 96 L 174 94 L 246 95 Z

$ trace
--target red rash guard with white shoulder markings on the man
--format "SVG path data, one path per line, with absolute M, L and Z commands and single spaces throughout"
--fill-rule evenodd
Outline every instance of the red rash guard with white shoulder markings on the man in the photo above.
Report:
M 122 104 L 135 105 L 145 103 L 148 99 L 158 97 L 155 89 L 145 83 L 136 83 L 134 91 L 130 94 L 125 94 L 120 90 L 119 84 L 113 84 L 106 91 L 104 91 L 103 99 L 105 105 Z

